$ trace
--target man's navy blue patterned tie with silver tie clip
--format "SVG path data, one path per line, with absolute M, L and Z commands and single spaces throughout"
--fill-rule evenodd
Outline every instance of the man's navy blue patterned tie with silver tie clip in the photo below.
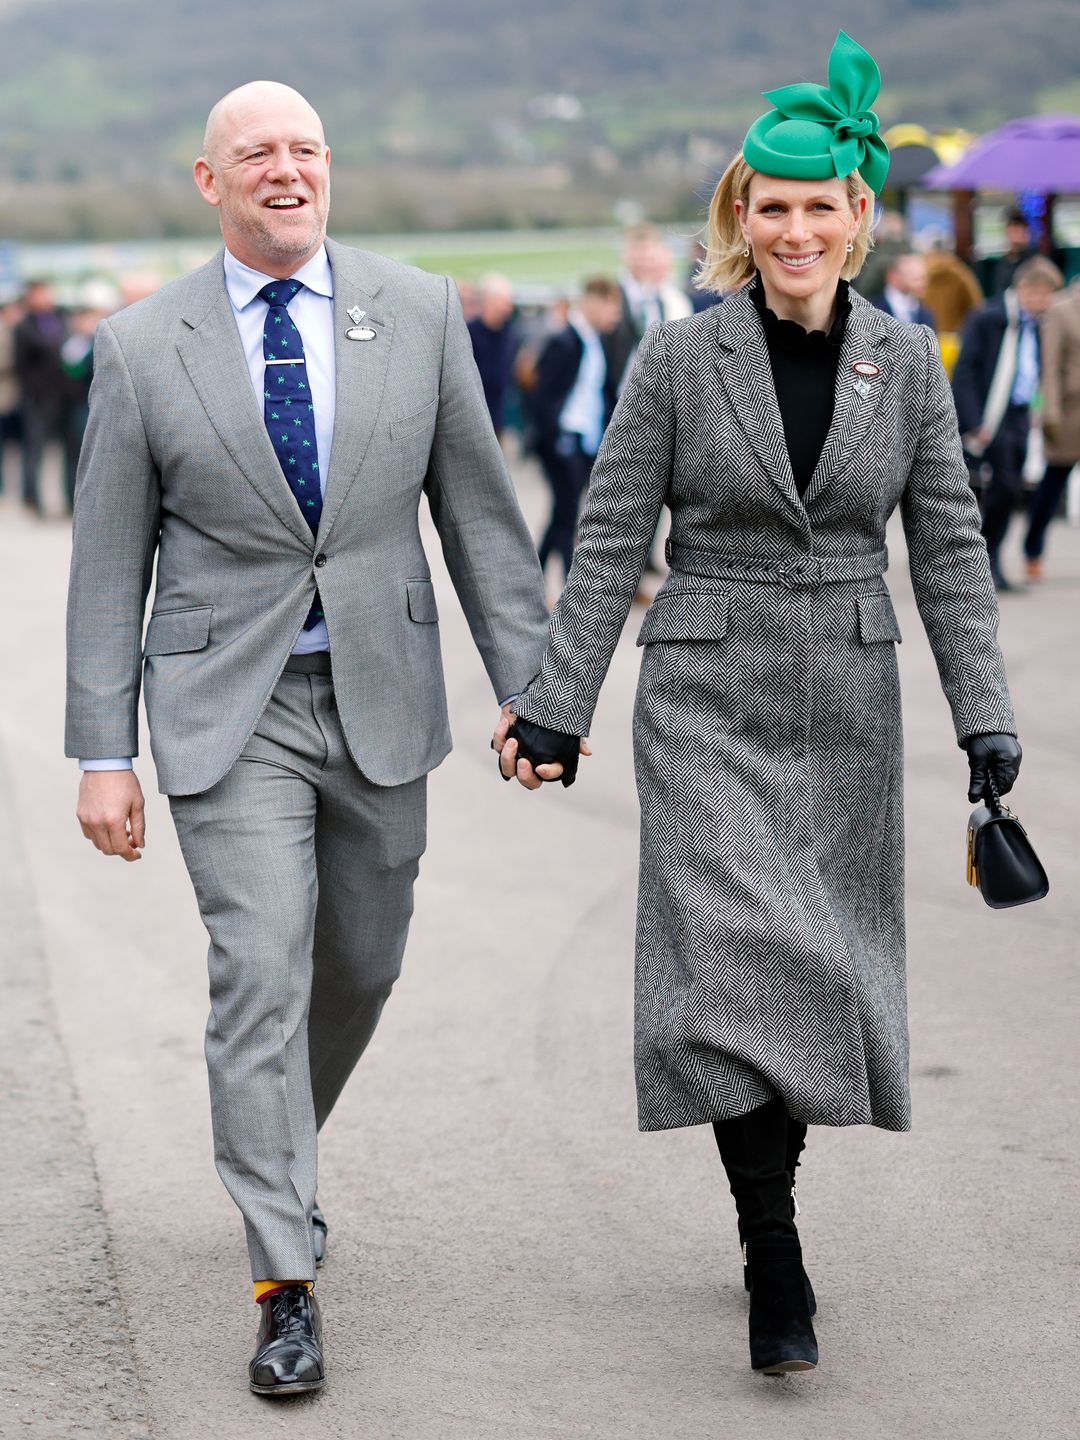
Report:
M 308 384 L 304 341 L 288 312 L 289 301 L 302 288 L 298 279 L 282 279 L 272 281 L 259 291 L 259 298 L 268 305 L 262 330 L 262 357 L 266 361 L 262 413 L 288 487 L 314 536 L 323 514 L 315 406 Z M 304 629 L 311 629 L 321 619 L 323 605 L 315 595 Z

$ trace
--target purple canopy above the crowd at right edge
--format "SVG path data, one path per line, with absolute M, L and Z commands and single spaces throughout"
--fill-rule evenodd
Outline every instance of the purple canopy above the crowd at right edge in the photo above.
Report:
M 955 166 L 930 170 L 923 186 L 1080 194 L 1080 115 L 1011 120 L 971 144 Z

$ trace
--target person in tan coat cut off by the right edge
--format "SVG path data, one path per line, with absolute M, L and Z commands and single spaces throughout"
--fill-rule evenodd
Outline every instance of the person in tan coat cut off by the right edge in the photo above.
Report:
M 1061 505 L 1073 467 L 1080 465 L 1080 279 L 1047 308 L 1040 343 L 1047 468 L 1028 511 L 1024 537 L 1028 580 L 1043 579 L 1047 530 Z

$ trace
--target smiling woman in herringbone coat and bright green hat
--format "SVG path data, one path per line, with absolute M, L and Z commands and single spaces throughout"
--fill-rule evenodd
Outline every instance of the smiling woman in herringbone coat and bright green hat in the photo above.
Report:
M 727 298 L 647 334 L 540 674 L 492 737 L 504 778 L 575 779 L 667 504 L 634 717 L 639 1119 L 713 1129 L 765 1374 L 818 1362 L 806 1126 L 910 1126 L 897 507 L 969 796 L 1021 759 L 937 346 L 850 288 L 888 168 L 877 65 L 841 32 L 828 78 L 768 92 L 720 180 L 703 281 Z

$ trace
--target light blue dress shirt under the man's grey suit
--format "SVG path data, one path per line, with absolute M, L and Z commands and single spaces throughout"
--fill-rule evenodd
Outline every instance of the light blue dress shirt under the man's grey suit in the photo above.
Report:
M 255 399 L 262 415 L 264 374 L 266 370 L 262 357 L 262 330 L 266 320 L 268 305 L 259 300 L 259 291 L 276 275 L 262 275 L 240 264 L 236 256 L 225 252 L 225 288 L 229 294 L 232 312 L 236 317 L 236 328 L 240 334 L 240 344 L 248 360 L 248 374 L 251 376 Z M 334 441 L 334 274 L 330 268 L 330 256 L 325 246 L 317 255 L 292 272 L 292 279 L 304 282 L 304 289 L 289 302 L 289 314 L 297 323 L 304 338 L 304 359 L 307 361 L 308 384 L 311 386 L 311 403 L 315 406 L 315 445 L 318 446 L 318 475 L 325 492 L 325 475 L 330 469 L 330 449 Z M 310 655 L 314 651 L 330 649 L 327 622 L 320 621 L 310 631 L 301 631 L 297 644 L 292 647 L 294 655 Z M 131 759 L 114 760 L 79 760 L 84 770 L 130 770 Z

